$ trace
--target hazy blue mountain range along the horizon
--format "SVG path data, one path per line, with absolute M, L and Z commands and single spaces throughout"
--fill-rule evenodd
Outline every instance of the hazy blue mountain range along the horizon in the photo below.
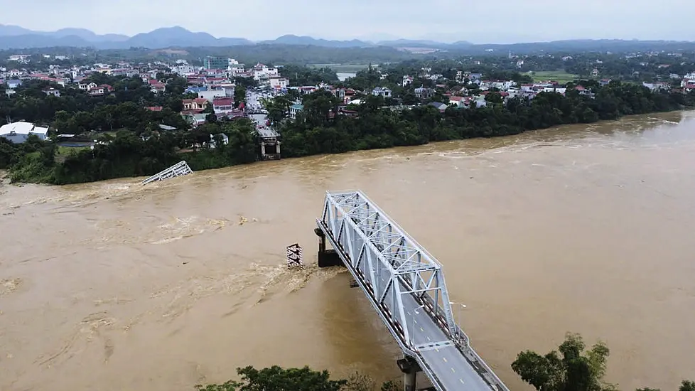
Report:
M 314 45 L 327 48 L 370 48 L 375 46 L 391 47 L 429 47 L 444 48 L 446 43 L 433 41 L 394 40 L 371 42 L 353 39 L 350 41 L 333 41 L 309 36 L 286 35 L 269 41 L 249 41 L 246 38 L 216 38 L 208 33 L 193 33 L 183 27 L 158 28 L 149 33 L 135 36 L 122 34 L 99 35 L 85 28 L 62 28 L 58 31 L 32 31 L 20 26 L 0 24 L 0 49 L 48 48 L 54 46 L 94 47 L 99 49 L 122 48 L 171 48 L 190 46 L 235 46 L 235 45 Z M 470 45 L 466 42 L 451 45 Z

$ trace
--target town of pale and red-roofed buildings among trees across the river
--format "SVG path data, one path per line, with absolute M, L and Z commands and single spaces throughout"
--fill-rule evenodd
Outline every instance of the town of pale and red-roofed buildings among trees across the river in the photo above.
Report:
M 230 145 L 230 137 L 235 136 L 232 129 L 244 133 L 232 142 L 236 152 L 215 164 L 197 167 L 214 168 L 281 156 L 516 134 L 691 105 L 695 97 L 692 54 L 625 53 L 618 57 L 645 68 L 643 75 L 639 71 L 623 75 L 615 71 L 617 67 L 611 69 L 608 60 L 615 58 L 613 53 L 591 58 L 510 52 L 498 57 L 370 64 L 343 77 L 328 67 L 247 66 L 222 56 L 207 56 L 202 61 L 84 64 L 82 60 L 78 64 L 66 55 L 16 54 L 9 55 L 0 67 L 0 136 L 13 144 L 21 144 L 31 135 L 53 143 L 56 148 L 50 154 L 59 155 L 54 160 L 65 166 L 78 156 L 82 163 L 99 159 L 96 154 L 80 152 L 108 146 L 124 131 L 134 132 L 141 142 L 176 139 L 163 144 L 179 155 L 210 153 Z M 533 70 L 557 62 L 576 73 Z M 674 69 L 679 73 L 672 73 Z M 623 92 L 616 94 L 618 89 Z M 647 101 L 634 103 L 625 94 Z M 569 99 L 571 105 L 563 105 L 555 97 Z M 367 122 L 378 122 L 377 112 L 382 119 L 394 119 L 389 125 L 394 129 L 364 130 L 370 127 Z M 421 124 L 431 113 L 438 113 L 438 118 Z M 417 129 L 409 127 L 411 122 Z M 329 128 L 335 130 L 330 132 L 333 141 L 307 142 L 311 129 Z M 0 168 L 19 164 L 31 152 L 9 146 L 4 150 Z M 65 181 L 149 175 L 176 160 L 172 156 L 149 167 Z

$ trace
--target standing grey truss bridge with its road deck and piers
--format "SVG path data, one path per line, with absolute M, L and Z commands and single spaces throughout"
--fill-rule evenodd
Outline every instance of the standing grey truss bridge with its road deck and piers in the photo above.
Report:
M 316 223 L 319 265 L 350 270 L 403 350 L 406 391 L 419 371 L 438 391 L 509 391 L 454 320 L 441 264 L 364 193 L 326 193 Z

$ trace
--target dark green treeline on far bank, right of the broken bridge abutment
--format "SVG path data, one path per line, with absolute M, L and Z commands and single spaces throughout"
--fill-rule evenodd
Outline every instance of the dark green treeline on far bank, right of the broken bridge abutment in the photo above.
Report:
M 402 111 L 382 109 L 384 100 L 381 97 L 367 95 L 362 105 L 350 107 L 357 111 L 357 118 L 334 115 L 338 100 L 328 92 L 315 92 L 304 97 L 304 110 L 298 120 L 279 125 L 283 156 L 508 136 L 561 124 L 588 124 L 623 115 L 667 112 L 695 105 L 695 94 L 652 92 L 623 82 L 600 87 L 592 80 L 583 80 L 581 85 L 593 90 L 595 97 L 580 95 L 569 85 L 565 96 L 542 92 L 533 100 L 514 98 L 504 104 L 499 93 L 490 92 L 485 98 L 487 107 L 449 107 L 443 114 L 430 105 Z

